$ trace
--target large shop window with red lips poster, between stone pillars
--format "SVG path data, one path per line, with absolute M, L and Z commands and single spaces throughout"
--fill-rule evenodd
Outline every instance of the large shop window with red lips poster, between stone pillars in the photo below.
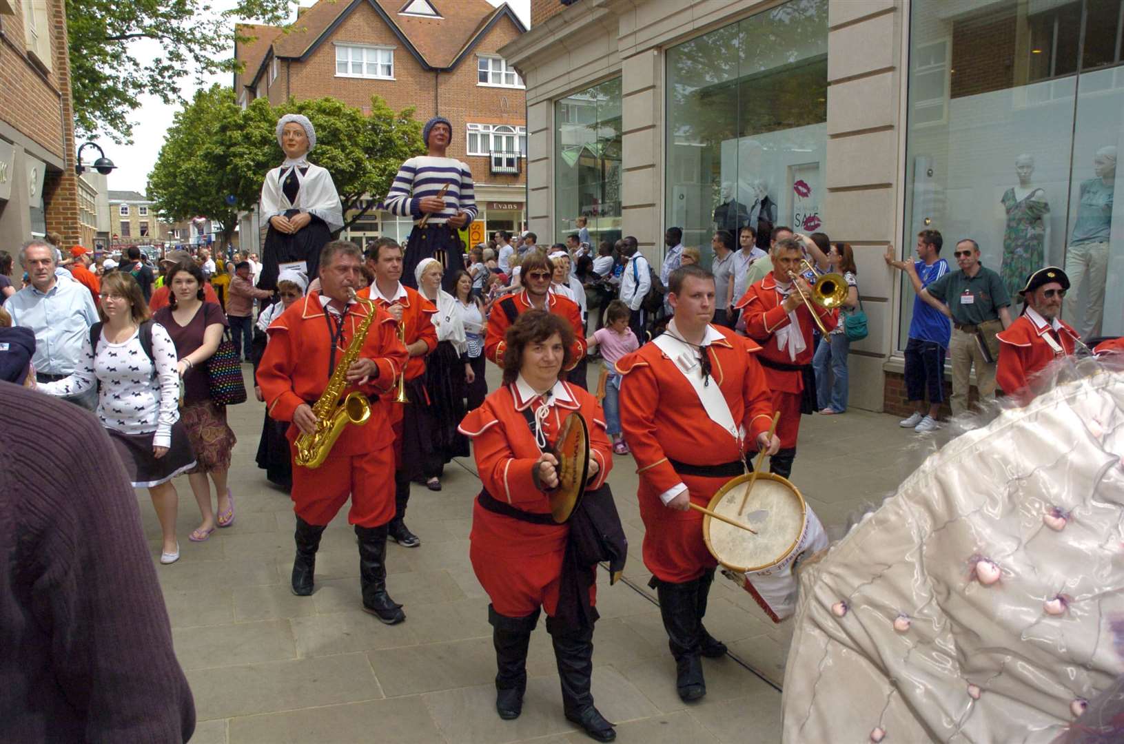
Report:
M 791 0 L 667 53 L 667 225 L 710 262 L 715 229 L 822 221 L 827 0 Z

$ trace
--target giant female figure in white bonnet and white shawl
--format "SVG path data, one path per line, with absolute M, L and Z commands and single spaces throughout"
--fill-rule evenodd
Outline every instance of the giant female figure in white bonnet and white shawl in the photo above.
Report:
M 275 290 L 284 267 L 317 276 L 320 248 L 344 226 L 343 207 L 332 174 L 308 162 L 316 146 L 312 123 L 299 114 L 287 114 L 277 126 L 284 163 L 265 174 L 262 184 L 262 219 L 269 221 L 262 247 L 261 289 Z

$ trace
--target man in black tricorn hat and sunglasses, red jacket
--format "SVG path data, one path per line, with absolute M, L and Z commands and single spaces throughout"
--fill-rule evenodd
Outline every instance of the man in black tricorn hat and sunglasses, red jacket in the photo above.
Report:
M 1058 266 L 1039 269 L 1019 290 L 1023 312 L 998 334 L 996 381 L 1023 405 L 1034 398 L 1031 378 L 1059 356 L 1068 356 L 1079 339 L 1072 326 L 1058 318 L 1069 289 L 1069 276 Z

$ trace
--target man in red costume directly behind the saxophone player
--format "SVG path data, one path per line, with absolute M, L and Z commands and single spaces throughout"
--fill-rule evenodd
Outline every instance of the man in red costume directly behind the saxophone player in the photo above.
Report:
M 424 478 L 422 438 L 428 433 L 424 430 L 420 411 L 413 406 L 429 405 L 422 375 L 425 357 L 437 348 L 437 329 L 433 325 L 437 308 L 416 289 L 402 285 L 402 248 L 393 239 L 379 238 L 373 248 L 368 248 L 366 265 L 374 274 L 374 283 L 360 290 L 359 296 L 373 300 L 399 324 L 399 337 L 409 354 L 404 373 L 409 402 L 390 403 L 395 430 L 395 518 L 390 523 L 390 539 L 404 547 L 417 547 L 422 541 L 406 527 L 406 506 L 410 500 L 410 481 Z

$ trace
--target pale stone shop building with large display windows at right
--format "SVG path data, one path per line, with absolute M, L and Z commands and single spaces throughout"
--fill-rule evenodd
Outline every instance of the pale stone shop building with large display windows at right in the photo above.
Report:
M 1124 334 L 1121 0 L 534 0 L 500 49 L 527 85 L 528 219 L 559 239 L 825 232 L 870 335 L 851 405 L 904 410 L 914 293 L 886 266 L 939 229 L 1018 276 L 1064 266 L 1066 316 Z M 709 261 L 709 256 L 707 257 Z M 1116 279 L 1116 281 L 1114 281 Z M 1017 314 L 1018 306 L 1015 306 Z

